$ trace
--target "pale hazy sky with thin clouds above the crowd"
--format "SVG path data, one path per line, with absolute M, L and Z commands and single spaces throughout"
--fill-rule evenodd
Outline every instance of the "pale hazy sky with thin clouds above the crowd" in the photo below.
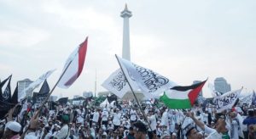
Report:
M 49 69 L 55 85 L 67 57 L 89 36 L 84 70 L 69 89 L 73 97 L 106 91 L 102 82 L 119 68 L 125 3 L 130 18 L 131 61 L 188 86 L 223 76 L 232 90 L 256 89 L 256 1 L 241 0 L 1 0 L 0 79 L 36 80 Z M 97 73 L 97 75 L 96 75 Z M 97 76 L 97 78 L 96 78 Z M 204 95 L 211 94 L 207 85 Z M 38 88 L 39 89 L 39 88 Z M 37 90 L 38 90 L 37 89 Z M 36 91 L 37 91 L 36 90 Z

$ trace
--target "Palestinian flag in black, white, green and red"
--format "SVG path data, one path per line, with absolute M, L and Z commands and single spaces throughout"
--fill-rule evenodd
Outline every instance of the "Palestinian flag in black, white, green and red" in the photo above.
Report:
M 165 103 L 168 108 L 191 108 L 206 81 L 192 86 L 174 86 L 160 97 L 160 101 Z

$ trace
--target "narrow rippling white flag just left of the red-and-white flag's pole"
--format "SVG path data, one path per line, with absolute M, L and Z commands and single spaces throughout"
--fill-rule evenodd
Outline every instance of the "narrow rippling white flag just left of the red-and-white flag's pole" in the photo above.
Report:
M 21 99 L 24 99 L 26 97 L 26 92 L 28 90 L 34 90 L 37 88 L 43 81 L 45 81 L 49 75 L 51 75 L 55 69 L 47 71 L 44 75 L 41 75 L 37 81 L 33 81 L 29 86 L 27 86 L 22 92 L 19 94 L 18 101 L 20 102 Z

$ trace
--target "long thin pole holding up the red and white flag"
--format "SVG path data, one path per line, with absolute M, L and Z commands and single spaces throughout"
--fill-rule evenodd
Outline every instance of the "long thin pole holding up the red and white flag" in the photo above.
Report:
M 44 103 L 42 103 L 42 105 L 38 108 L 38 113 L 36 113 L 35 115 L 33 115 L 34 119 L 35 119 L 36 117 L 38 117 L 39 112 L 40 112 L 41 109 L 43 108 L 44 104 L 47 103 L 47 100 L 49 99 L 49 96 L 50 96 L 50 95 L 52 94 L 52 92 L 55 90 L 55 87 L 56 87 L 56 86 L 58 85 L 58 83 L 61 81 L 62 76 L 66 73 L 66 71 L 67 71 L 69 65 L 70 65 L 72 62 L 73 62 L 73 61 L 70 61 L 70 62 L 67 64 L 67 67 L 66 67 L 66 69 L 64 69 L 64 71 L 62 72 L 62 74 L 61 74 L 59 80 L 55 83 L 55 86 L 51 89 L 51 91 L 49 92 L 48 96 L 44 99 Z M 24 138 L 24 137 L 25 137 L 26 131 L 28 131 L 28 128 L 29 128 L 29 127 L 30 127 L 30 125 L 27 126 L 26 130 L 22 133 L 22 135 L 20 136 L 20 138 L 22 138 L 22 137 Z

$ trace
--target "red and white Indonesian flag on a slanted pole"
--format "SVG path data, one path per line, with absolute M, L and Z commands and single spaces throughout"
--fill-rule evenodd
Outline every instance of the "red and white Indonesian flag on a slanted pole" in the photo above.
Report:
M 70 54 L 69 58 L 67 58 L 67 62 L 63 68 L 63 72 L 65 72 L 65 70 L 66 72 L 61 77 L 58 87 L 68 88 L 79 78 L 79 75 L 81 75 L 87 51 L 87 42 L 88 37 L 86 37 L 85 41 Z

